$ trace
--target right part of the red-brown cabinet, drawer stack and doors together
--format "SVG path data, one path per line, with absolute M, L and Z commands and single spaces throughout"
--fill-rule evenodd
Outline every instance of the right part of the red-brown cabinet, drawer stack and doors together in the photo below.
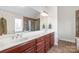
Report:
M 54 46 L 54 33 L 50 33 L 36 39 L 37 53 L 45 53 L 53 46 Z

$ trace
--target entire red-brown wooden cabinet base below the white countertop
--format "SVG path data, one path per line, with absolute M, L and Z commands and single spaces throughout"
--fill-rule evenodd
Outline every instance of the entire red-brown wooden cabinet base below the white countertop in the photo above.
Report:
M 14 47 L 0 51 L 1 53 L 45 53 L 54 46 L 54 33 L 30 40 Z

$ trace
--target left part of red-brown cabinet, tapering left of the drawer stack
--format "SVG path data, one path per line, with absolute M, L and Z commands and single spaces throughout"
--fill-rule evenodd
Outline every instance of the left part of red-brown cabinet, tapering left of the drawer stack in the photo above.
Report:
M 17 46 L 8 48 L 1 51 L 2 53 L 24 53 L 24 52 L 35 52 L 35 40 L 31 40 Z M 32 50 L 31 50 L 32 49 Z

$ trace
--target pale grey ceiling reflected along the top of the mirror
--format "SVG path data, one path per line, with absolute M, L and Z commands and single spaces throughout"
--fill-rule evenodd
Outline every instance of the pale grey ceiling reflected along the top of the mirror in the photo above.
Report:
M 40 12 L 28 6 L 0 6 L 0 9 L 31 18 L 38 18 L 40 15 Z

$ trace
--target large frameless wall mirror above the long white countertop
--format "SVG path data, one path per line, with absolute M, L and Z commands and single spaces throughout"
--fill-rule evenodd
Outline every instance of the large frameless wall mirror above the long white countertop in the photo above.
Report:
M 0 7 L 1 37 L 24 33 L 24 31 L 39 31 L 40 23 L 40 12 L 31 7 Z

